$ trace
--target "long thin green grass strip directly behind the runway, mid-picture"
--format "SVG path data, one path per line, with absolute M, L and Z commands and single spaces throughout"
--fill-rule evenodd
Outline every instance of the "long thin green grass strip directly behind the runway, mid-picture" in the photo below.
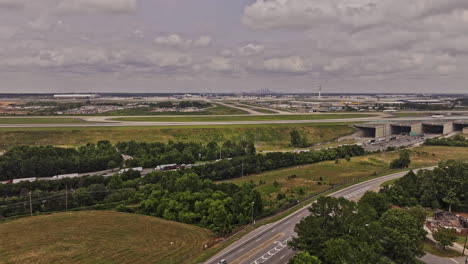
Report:
M 317 114 L 317 115 L 258 115 L 258 116 L 193 116 L 193 117 L 121 117 L 114 120 L 138 122 L 210 122 L 210 121 L 276 121 L 276 120 L 318 120 L 370 117 L 368 114 Z

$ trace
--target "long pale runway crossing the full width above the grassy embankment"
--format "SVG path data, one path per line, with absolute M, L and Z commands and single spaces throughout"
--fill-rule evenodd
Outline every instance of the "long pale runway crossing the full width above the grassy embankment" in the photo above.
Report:
M 0 124 L 0 128 L 33 128 L 33 127 L 152 127 L 152 126 L 216 126 L 216 125 L 266 125 L 266 124 L 311 124 L 311 123 L 358 123 L 358 122 L 404 122 L 430 121 L 442 122 L 450 120 L 468 120 L 468 116 L 448 116 L 443 119 L 430 117 L 400 117 L 388 118 L 386 115 L 375 117 L 340 118 L 340 119 L 309 119 L 309 120 L 268 120 L 268 121 L 203 121 L 203 122 L 141 122 L 116 121 L 115 118 L 149 117 L 149 116 L 81 116 L 76 117 L 88 121 L 87 123 L 69 124 Z M 15 117 L 18 118 L 18 117 Z M 31 118 L 31 117 L 28 117 Z M 41 117 L 37 117 L 41 118 Z M 63 118 L 63 117 L 62 117 Z

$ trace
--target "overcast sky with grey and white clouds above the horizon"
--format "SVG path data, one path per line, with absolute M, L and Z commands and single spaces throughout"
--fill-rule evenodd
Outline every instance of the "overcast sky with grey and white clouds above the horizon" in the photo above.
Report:
M 0 92 L 465 92 L 467 0 L 0 0 Z

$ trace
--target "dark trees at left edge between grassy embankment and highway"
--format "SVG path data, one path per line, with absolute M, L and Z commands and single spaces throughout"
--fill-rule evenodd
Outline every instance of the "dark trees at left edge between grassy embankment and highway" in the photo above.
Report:
M 109 141 L 78 149 L 19 146 L 0 157 L 0 180 L 99 171 L 121 162 L 120 153 Z

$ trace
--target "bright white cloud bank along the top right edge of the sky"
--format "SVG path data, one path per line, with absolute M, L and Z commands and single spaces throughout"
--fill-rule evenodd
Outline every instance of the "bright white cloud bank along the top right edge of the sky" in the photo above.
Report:
M 451 13 L 468 8 L 466 0 L 256 0 L 244 10 L 242 22 L 252 28 L 312 28 L 341 25 L 353 28 Z

